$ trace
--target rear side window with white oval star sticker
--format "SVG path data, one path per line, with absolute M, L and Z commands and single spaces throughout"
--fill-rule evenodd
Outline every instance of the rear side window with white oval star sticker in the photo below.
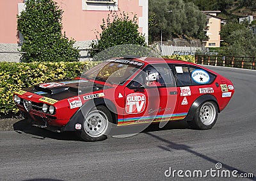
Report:
M 211 84 L 215 75 L 199 67 L 175 65 L 177 86 Z

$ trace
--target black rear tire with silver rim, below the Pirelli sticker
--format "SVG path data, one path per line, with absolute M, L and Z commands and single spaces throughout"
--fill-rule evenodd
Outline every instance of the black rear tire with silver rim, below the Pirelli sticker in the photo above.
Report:
M 212 101 L 206 101 L 197 107 L 195 116 L 192 121 L 188 121 L 188 125 L 193 129 L 211 129 L 217 118 L 217 104 Z

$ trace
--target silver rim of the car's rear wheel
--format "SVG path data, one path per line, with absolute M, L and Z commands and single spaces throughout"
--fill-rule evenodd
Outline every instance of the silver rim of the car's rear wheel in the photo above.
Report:
M 211 125 L 216 117 L 216 109 L 211 102 L 205 102 L 200 109 L 200 121 L 204 125 Z

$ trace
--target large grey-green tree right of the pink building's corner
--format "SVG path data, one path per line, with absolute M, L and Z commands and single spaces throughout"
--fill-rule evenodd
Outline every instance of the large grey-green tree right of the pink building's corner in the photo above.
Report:
M 206 16 L 192 2 L 183 0 L 148 1 L 150 40 L 171 37 L 204 39 Z M 161 33 L 162 32 L 162 33 Z

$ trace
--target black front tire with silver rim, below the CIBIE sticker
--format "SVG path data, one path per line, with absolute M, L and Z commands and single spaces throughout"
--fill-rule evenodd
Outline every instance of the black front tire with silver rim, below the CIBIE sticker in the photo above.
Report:
M 83 141 L 102 141 L 108 138 L 111 123 L 110 111 L 105 106 L 97 106 L 86 115 L 82 130 L 77 134 Z

